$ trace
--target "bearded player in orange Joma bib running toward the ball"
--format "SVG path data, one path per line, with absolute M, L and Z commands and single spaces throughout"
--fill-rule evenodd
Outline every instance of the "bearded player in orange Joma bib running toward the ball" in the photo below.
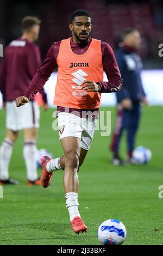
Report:
M 16 99 L 16 106 L 33 99 L 58 66 L 54 105 L 57 105 L 59 137 L 64 155 L 42 157 L 41 183 L 48 187 L 55 170 L 64 170 L 66 208 L 75 233 L 87 230 L 78 211 L 78 170 L 90 149 L 95 131 L 101 93 L 117 92 L 122 78 L 114 53 L 105 42 L 90 37 L 91 15 L 77 10 L 69 25 L 72 38 L 54 42 L 37 70 L 29 88 Z M 109 82 L 103 82 L 103 70 Z M 89 115 L 84 116 L 89 110 Z M 88 129 L 90 126 L 92 129 Z

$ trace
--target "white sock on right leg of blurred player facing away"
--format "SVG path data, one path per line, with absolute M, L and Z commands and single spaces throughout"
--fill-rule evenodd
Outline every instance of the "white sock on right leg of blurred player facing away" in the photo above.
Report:
M 26 162 L 27 179 L 30 181 L 38 179 L 36 163 L 37 148 L 34 139 L 26 139 L 24 141 L 23 156 Z

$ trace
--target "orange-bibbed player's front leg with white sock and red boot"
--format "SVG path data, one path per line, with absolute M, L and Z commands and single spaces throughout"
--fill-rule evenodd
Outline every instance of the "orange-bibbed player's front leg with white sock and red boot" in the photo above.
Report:
M 66 208 L 70 214 L 72 229 L 76 234 L 86 232 L 87 227 L 83 223 L 78 211 L 78 168 L 80 157 L 80 139 L 77 137 L 65 137 L 61 139 L 64 149 L 65 170 L 64 190 Z

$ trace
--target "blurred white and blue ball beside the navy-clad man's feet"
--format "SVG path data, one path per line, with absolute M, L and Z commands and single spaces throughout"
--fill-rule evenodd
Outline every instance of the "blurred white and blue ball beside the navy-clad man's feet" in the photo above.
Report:
M 136 164 L 146 164 L 148 163 L 152 158 L 152 152 L 151 150 L 139 146 L 133 151 L 133 162 Z

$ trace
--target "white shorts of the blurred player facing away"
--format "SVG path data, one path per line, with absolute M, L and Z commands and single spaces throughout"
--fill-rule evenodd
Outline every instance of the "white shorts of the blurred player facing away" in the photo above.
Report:
M 15 101 L 6 103 L 6 127 L 12 131 L 39 128 L 40 108 L 35 101 L 16 107 Z

